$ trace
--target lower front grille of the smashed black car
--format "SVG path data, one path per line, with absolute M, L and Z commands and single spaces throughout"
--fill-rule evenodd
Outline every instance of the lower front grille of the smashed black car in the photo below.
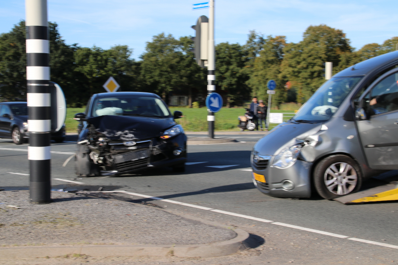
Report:
M 150 156 L 151 150 L 145 149 L 113 156 L 113 161 L 117 171 L 123 172 L 146 167 Z

